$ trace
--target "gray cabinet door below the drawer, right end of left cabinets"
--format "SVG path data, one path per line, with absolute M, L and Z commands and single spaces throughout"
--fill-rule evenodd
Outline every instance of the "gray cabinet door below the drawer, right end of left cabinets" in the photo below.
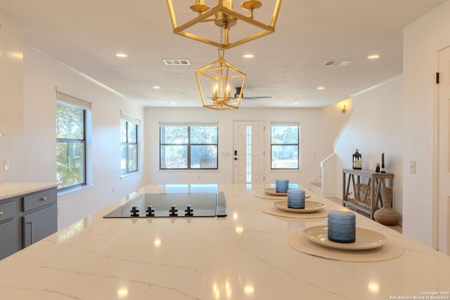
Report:
M 56 217 L 57 207 L 54 204 L 46 209 L 41 209 L 32 214 L 22 217 L 23 247 L 48 237 L 58 230 L 58 220 Z

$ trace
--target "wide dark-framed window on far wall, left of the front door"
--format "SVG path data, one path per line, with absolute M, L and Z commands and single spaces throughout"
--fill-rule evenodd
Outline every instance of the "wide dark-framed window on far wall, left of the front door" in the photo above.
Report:
M 160 124 L 160 169 L 217 169 L 217 124 Z

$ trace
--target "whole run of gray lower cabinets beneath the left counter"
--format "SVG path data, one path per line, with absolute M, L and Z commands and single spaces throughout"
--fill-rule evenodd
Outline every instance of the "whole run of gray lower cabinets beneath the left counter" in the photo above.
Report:
M 0 200 L 0 259 L 58 230 L 56 188 Z

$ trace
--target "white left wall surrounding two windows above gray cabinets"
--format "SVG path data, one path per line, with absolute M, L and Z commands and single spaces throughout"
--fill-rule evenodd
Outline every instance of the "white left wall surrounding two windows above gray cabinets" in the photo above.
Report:
M 56 182 L 56 86 L 92 103 L 92 186 L 58 196 L 63 228 L 139 188 L 141 173 L 120 179 L 120 110 L 143 119 L 143 109 L 25 47 L 24 134 L 0 137 L 0 161 L 11 166 L 0 182 Z

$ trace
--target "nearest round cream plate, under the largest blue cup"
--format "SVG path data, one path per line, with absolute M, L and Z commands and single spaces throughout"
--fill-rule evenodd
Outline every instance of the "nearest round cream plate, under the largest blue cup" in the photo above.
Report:
M 322 246 L 345 249 L 345 250 L 367 250 L 375 249 L 386 244 L 387 237 L 381 233 L 356 227 L 356 240 L 351 243 L 333 242 L 328 240 L 327 226 L 314 226 L 303 230 L 303 235 L 316 244 Z

